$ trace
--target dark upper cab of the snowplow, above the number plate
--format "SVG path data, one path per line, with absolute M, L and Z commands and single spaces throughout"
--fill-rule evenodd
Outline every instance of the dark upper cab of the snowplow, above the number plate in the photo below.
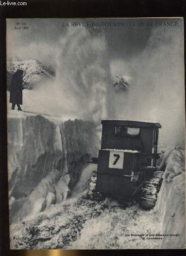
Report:
M 142 166 L 156 167 L 159 123 L 102 120 L 101 124 L 101 149 L 138 150 L 141 152 Z

